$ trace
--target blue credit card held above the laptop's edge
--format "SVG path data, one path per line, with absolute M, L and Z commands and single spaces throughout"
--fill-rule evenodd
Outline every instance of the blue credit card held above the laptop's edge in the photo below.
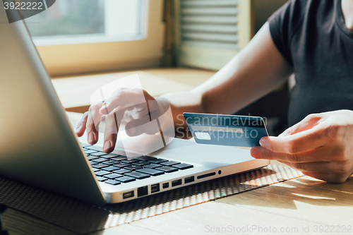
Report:
M 184 113 L 184 119 L 196 143 L 253 147 L 268 136 L 260 116 Z

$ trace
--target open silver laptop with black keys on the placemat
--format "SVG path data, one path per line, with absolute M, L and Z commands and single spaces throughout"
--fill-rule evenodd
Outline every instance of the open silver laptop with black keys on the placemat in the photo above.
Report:
M 2 3 L 0 32 L 1 176 L 104 205 L 269 164 L 246 149 L 177 138 L 137 159 L 106 155 L 77 138 L 25 23 L 8 23 Z

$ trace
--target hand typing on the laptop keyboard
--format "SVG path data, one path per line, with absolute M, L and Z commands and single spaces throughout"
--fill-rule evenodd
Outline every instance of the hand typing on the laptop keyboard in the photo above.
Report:
M 160 129 L 150 121 L 156 119 L 169 108 L 164 100 L 156 101 L 145 90 L 123 88 L 116 90 L 104 103 L 92 104 L 90 110 L 83 114 L 76 128 L 80 137 L 87 131 L 88 143 L 98 141 L 99 128 L 104 128 L 104 152 L 112 152 L 117 133 L 125 126 L 126 134 L 136 136 L 142 133 L 155 134 Z M 100 125 L 104 123 L 105 125 Z M 174 132 L 174 130 L 173 130 Z

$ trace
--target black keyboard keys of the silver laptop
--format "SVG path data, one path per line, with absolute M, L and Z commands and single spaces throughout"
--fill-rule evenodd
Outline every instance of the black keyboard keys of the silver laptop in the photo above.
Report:
M 104 153 L 100 147 L 81 143 L 97 180 L 111 185 L 129 183 L 151 176 L 170 174 L 193 168 L 192 164 L 167 159 L 142 156 L 128 159 L 126 156 Z

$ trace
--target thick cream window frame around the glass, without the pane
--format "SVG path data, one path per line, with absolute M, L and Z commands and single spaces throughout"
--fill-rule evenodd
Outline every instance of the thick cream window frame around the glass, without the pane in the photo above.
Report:
M 97 43 L 84 39 L 81 43 L 56 45 L 37 42 L 49 74 L 64 76 L 160 66 L 164 45 L 163 0 L 143 0 L 143 4 L 148 16 L 142 27 L 146 31 L 135 40 L 112 41 L 108 37 Z

